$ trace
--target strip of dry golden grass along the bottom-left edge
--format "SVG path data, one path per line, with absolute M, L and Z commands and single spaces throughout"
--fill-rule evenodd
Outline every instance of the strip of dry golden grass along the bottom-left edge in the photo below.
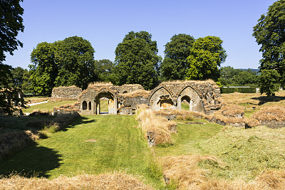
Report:
M 0 189 L 152 189 L 128 174 L 59 176 L 56 179 L 11 175 L 0 179 Z

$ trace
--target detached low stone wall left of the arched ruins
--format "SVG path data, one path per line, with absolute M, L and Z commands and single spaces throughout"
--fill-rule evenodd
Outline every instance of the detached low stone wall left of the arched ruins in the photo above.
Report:
M 68 99 L 68 100 L 78 100 L 79 95 L 81 95 L 82 90 L 76 86 L 60 86 L 53 88 L 51 93 L 51 100 L 56 99 Z

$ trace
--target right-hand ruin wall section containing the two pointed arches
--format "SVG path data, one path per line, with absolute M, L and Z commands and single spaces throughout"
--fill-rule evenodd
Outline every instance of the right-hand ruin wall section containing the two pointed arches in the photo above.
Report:
M 152 110 L 181 110 L 182 101 L 187 101 L 190 111 L 206 114 L 221 107 L 219 86 L 212 80 L 161 83 L 150 91 L 149 105 Z

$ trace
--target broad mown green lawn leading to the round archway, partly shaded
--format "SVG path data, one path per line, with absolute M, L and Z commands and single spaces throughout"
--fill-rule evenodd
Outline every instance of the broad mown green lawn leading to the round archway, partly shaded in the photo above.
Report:
M 0 162 L 0 174 L 18 171 L 54 178 L 59 175 L 127 171 L 145 175 L 150 151 L 132 116 L 84 116 Z M 86 142 L 90 140 L 91 142 Z

